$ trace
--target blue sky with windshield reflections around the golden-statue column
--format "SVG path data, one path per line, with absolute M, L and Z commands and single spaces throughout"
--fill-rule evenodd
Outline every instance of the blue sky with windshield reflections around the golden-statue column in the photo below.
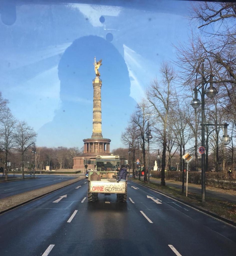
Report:
M 96 56 L 103 59 L 103 137 L 111 150 L 122 146 L 121 132 L 145 87 L 163 60 L 175 59 L 171 44 L 188 39 L 190 3 L 47 2 L 17 1 L 15 20 L 11 6 L 0 10 L 3 97 L 17 119 L 34 127 L 38 146 L 82 147 L 92 135 Z

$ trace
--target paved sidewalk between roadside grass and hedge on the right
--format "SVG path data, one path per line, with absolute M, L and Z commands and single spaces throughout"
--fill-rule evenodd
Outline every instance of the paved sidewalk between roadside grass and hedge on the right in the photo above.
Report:
M 136 179 L 138 178 L 136 177 Z M 143 179 L 143 177 L 141 177 L 141 179 Z M 161 184 L 161 179 L 150 177 L 150 182 L 153 184 Z M 165 179 L 165 184 L 167 186 L 176 187 L 182 190 L 182 182 Z M 186 191 L 186 183 L 184 183 L 184 191 Z M 188 183 L 188 191 L 201 195 L 201 185 Z M 234 190 L 225 190 L 206 186 L 206 197 L 236 203 L 236 191 Z

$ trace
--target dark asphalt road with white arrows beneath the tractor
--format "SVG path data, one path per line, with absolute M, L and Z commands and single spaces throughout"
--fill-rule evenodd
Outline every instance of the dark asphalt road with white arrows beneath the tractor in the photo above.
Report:
M 2 214 L 0 254 L 235 255 L 235 227 L 139 184 L 129 181 L 126 203 L 98 198 L 87 201 L 83 179 Z

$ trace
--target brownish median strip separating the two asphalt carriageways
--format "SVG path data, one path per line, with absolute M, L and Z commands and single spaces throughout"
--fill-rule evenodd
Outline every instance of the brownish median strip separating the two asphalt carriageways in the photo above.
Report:
M 16 207 L 19 207 L 21 205 L 24 205 L 30 201 L 33 201 L 35 199 L 38 199 L 40 197 L 43 197 L 45 195 L 48 195 L 54 191 L 57 191 L 61 188 L 67 187 L 79 180 L 82 180 L 83 178 L 74 178 L 70 180 L 66 180 L 57 184 L 53 184 L 50 186 L 46 186 L 43 188 L 38 188 L 34 190 L 30 190 L 24 193 L 20 193 L 14 196 L 9 196 L 3 199 L 0 199 L 0 214 L 3 214 L 4 212 L 7 212 L 9 210 L 12 210 Z

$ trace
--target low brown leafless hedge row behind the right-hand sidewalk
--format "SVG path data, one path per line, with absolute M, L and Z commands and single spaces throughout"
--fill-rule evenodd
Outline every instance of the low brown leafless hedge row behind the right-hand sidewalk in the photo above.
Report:
M 161 172 L 152 172 L 153 178 L 161 178 Z M 165 172 L 165 179 L 172 179 L 182 182 L 182 172 Z M 187 173 L 184 173 L 184 182 L 186 182 Z M 188 182 L 201 184 L 201 172 L 189 172 Z M 234 189 L 236 190 L 236 173 L 228 175 L 227 173 L 206 172 L 206 185 L 210 187 Z

